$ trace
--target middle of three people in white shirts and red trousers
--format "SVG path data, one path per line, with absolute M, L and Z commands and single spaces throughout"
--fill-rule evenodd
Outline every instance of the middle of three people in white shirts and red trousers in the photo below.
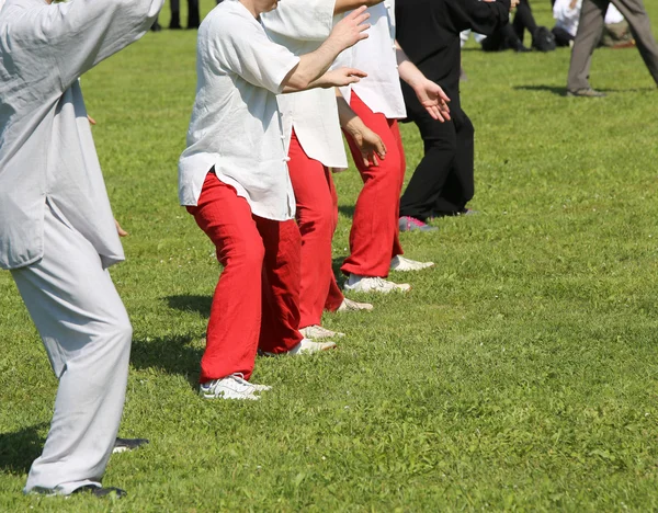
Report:
M 378 1 L 370 0 L 371 3 Z M 263 14 L 262 20 L 272 41 L 295 55 L 303 55 L 316 50 L 329 36 L 334 20 L 340 20 L 336 14 L 363 3 L 367 2 L 286 0 Z M 331 172 L 348 167 L 337 99 L 330 89 L 311 89 L 282 94 L 277 101 L 302 233 L 300 331 L 311 339 L 340 337 L 342 333 L 320 326 L 322 311 L 370 310 L 372 305 L 345 298 L 331 266 L 331 239 L 338 223 L 338 196 Z M 345 125 L 348 129 L 359 128 L 363 133 L 362 147 L 372 158 L 377 146 L 382 151 L 382 140 L 354 117 L 348 115 Z

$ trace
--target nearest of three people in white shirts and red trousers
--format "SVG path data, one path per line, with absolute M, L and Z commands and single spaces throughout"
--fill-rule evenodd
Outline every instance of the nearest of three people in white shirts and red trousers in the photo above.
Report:
M 364 76 L 327 70 L 340 52 L 367 37 L 361 24 L 367 14 L 345 16 L 317 50 L 295 56 L 260 23 L 276 3 L 226 0 L 198 32 L 198 81 L 179 195 L 224 265 L 201 361 L 205 398 L 260 398 L 269 387 L 248 381 L 257 350 L 302 354 L 334 346 L 298 331 L 300 237 L 276 94 Z

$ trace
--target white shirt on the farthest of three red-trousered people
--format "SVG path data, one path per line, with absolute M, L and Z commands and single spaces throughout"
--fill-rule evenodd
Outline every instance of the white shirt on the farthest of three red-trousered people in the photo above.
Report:
M 354 91 L 371 111 L 389 119 L 407 117 L 395 52 L 395 0 L 367 8 L 367 12 L 372 24 L 367 30 L 368 38 L 336 59 L 336 66 L 361 69 L 367 77 L 340 88 L 340 91 L 348 102 Z

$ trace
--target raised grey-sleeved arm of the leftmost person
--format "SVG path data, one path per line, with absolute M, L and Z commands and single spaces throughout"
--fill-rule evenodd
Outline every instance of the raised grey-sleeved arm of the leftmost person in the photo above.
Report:
M 46 43 L 33 45 L 34 60 L 57 68 L 64 91 L 101 60 L 141 37 L 162 3 L 163 0 L 70 0 L 44 4 L 26 11 L 12 25 L 12 36 L 24 45 Z

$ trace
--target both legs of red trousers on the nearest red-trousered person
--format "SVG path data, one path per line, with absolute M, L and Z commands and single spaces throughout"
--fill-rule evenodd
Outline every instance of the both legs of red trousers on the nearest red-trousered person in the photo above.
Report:
M 247 200 L 209 172 L 196 206 L 198 227 L 224 265 L 213 296 L 201 358 L 201 383 L 242 373 L 249 379 L 258 349 L 284 353 L 299 333 L 299 229 L 293 219 L 251 214 Z

